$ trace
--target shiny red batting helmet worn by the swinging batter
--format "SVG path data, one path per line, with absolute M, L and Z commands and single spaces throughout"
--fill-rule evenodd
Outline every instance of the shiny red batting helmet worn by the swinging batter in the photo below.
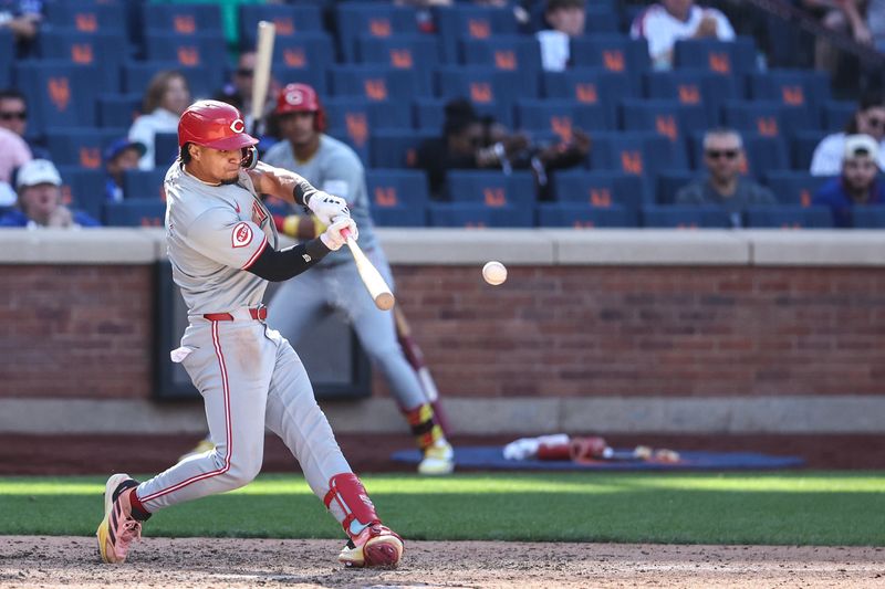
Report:
M 219 101 L 197 101 L 178 120 L 178 147 L 196 144 L 212 149 L 240 149 L 258 144 L 246 133 L 236 107 Z

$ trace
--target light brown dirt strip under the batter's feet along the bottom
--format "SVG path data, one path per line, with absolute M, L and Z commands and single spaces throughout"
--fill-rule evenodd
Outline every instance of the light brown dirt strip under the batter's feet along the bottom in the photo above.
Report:
M 145 538 L 122 566 L 94 538 L 0 537 L 0 587 L 844 587 L 885 583 L 885 549 L 410 541 L 395 570 L 343 569 L 334 540 Z

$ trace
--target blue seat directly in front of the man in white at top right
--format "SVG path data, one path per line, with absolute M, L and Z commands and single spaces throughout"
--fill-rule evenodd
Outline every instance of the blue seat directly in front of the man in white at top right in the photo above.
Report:
M 738 36 L 733 41 L 693 39 L 677 41 L 673 48 L 676 69 L 706 70 L 720 75 L 742 75 L 757 71 L 756 41 Z

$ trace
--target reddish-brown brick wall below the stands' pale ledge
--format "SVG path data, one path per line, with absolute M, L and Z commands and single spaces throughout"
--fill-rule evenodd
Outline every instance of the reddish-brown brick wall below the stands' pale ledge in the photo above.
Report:
M 885 270 L 396 266 L 440 390 L 885 393 Z M 4 265 L 0 395 L 150 395 L 153 266 Z M 375 388 L 384 385 L 375 379 Z

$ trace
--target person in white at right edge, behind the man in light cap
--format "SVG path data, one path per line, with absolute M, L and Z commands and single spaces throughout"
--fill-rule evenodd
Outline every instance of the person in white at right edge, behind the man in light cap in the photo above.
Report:
M 824 137 L 811 158 L 811 173 L 835 176 L 842 171 L 845 137 L 870 135 L 879 144 L 878 166 L 885 169 L 885 95 L 873 93 L 861 98 L 857 111 L 845 125 L 845 130 Z

